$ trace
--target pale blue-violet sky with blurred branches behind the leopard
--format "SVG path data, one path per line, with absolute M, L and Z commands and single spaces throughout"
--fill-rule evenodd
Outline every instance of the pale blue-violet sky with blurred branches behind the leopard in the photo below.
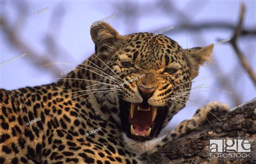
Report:
M 235 26 L 241 2 L 246 5 L 244 28 L 254 30 L 255 1 L 0 1 L 0 62 L 26 53 L 26 56 L 0 66 L 0 88 L 18 89 L 55 82 L 61 73 L 73 68 L 67 65 L 42 67 L 48 62 L 79 64 L 95 50 L 90 37 L 93 22 L 108 20 L 121 35 L 136 32 L 163 33 L 183 48 L 207 46 L 218 39 L 231 38 L 232 28 L 193 29 L 202 24 Z M 47 11 L 35 15 L 44 8 Z M 3 20 L 5 27 L 3 26 Z M 184 27 L 184 28 L 181 28 Z M 238 45 L 256 70 L 255 33 L 239 38 Z M 193 83 L 205 88 L 193 91 L 185 109 L 170 122 L 169 127 L 190 118 L 200 106 L 210 101 L 236 106 L 255 97 L 255 85 L 241 66 L 230 44 L 213 50 L 214 63 L 200 68 L 200 77 Z M 232 92 L 230 94 L 228 92 Z

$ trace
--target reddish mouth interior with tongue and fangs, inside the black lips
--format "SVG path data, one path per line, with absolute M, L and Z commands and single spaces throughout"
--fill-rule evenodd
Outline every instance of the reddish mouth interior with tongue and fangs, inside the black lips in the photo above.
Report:
M 155 117 L 156 108 L 149 107 L 147 109 L 141 109 L 138 105 L 132 103 L 129 115 L 131 134 L 149 136 Z

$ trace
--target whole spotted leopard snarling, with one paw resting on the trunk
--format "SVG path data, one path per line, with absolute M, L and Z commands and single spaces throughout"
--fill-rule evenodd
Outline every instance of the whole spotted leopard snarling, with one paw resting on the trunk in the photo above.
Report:
M 144 153 L 199 129 L 227 112 L 210 102 L 160 137 L 185 108 L 213 44 L 183 49 L 163 34 L 120 35 L 91 27 L 95 53 L 56 82 L 0 89 L 0 163 L 146 163 Z M 182 97 L 177 95 L 186 92 Z

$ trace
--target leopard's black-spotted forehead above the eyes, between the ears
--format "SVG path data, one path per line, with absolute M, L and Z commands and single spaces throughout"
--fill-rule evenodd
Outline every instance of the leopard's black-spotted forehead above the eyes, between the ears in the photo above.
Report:
M 152 33 L 134 33 L 123 37 L 124 47 L 118 55 L 120 59 L 133 60 L 145 69 L 164 68 L 167 63 L 182 58 L 178 43 L 164 35 L 153 37 Z

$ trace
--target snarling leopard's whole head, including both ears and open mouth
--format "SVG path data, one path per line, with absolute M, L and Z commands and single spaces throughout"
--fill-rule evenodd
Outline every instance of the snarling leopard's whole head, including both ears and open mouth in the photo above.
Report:
M 96 55 L 106 63 L 104 72 L 116 78 L 120 120 L 129 140 L 157 137 L 172 116 L 183 109 L 198 75 L 210 60 L 213 44 L 183 49 L 164 35 L 134 33 L 121 36 L 109 24 L 91 28 Z

